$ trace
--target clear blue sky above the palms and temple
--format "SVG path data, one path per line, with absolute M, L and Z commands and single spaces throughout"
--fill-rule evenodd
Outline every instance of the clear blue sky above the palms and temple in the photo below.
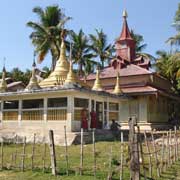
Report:
M 85 33 L 94 33 L 102 28 L 110 43 L 119 36 L 122 27 L 122 11 L 128 11 L 128 24 L 136 33 L 144 36 L 148 44 L 146 52 L 155 55 L 157 50 L 169 49 L 165 44 L 175 34 L 171 27 L 179 0 L 2 0 L 0 5 L 0 68 L 6 57 L 8 70 L 19 67 L 31 68 L 33 46 L 29 39 L 31 29 L 28 21 L 37 21 L 32 13 L 35 6 L 46 7 L 59 4 L 73 20 L 67 28 L 76 32 L 82 28 Z M 50 64 L 51 58 L 38 65 Z

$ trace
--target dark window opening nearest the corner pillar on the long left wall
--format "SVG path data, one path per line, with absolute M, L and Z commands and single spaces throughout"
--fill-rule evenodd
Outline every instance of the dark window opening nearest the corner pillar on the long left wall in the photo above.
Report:
M 48 107 L 67 107 L 67 97 L 48 99 Z

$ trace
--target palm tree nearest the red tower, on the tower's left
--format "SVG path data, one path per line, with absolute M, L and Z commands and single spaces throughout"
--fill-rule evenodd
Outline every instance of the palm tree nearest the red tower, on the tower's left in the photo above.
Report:
M 91 49 L 94 55 L 96 57 L 99 57 L 101 67 L 104 68 L 105 62 L 112 58 L 112 52 L 114 51 L 114 48 L 111 44 L 107 43 L 107 35 L 104 34 L 102 29 L 100 31 L 96 29 L 95 31 L 96 35 L 89 35 L 91 41 Z

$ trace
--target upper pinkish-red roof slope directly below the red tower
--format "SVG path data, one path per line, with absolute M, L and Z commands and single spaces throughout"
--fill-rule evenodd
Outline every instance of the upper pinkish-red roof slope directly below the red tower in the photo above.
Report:
M 127 67 L 120 69 L 120 76 L 133 76 L 133 75 L 144 75 L 144 74 L 151 74 L 151 71 L 147 69 L 141 68 L 137 65 L 130 64 Z M 104 78 L 112 78 L 117 76 L 117 70 L 114 69 L 112 66 L 105 67 L 101 70 L 100 79 Z M 96 74 L 92 73 L 87 76 L 87 80 L 92 80 L 96 78 Z

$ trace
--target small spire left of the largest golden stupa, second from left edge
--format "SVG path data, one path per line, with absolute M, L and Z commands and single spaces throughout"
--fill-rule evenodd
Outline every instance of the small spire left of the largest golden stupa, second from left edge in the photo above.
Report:
M 41 88 L 37 81 L 35 68 L 36 68 L 36 63 L 35 63 L 35 54 L 34 54 L 34 60 L 33 60 L 33 64 L 32 64 L 32 76 L 31 76 L 29 84 L 26 86 L 25 90 L 37 90 L 37 89 Z

